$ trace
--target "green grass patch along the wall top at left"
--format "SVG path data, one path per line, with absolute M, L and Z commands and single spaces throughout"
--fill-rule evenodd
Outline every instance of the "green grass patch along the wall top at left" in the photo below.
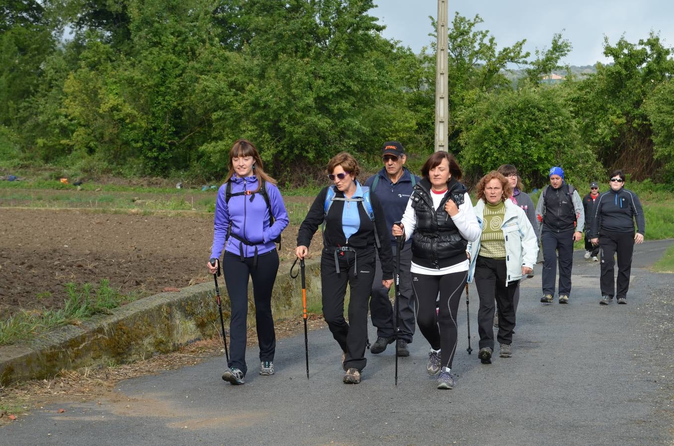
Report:
M 78 324 L 96 314 L 110 313 L 111 309 L 136 299 L 133 293 L 121 295 L 110 287 L 105 278 L 100 280 L 95 290 L 90 283 L 76 285 L 71 282 L 65 285 L 65 291 L 68 297 L 61 309 L 22 310 L 6 320 L 0 320 L 0 345 L 32 339 L 59 326 Z

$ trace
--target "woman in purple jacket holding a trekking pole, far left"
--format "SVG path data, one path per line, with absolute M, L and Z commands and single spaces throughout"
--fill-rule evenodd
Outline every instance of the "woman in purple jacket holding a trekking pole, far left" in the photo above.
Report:
M 230 357 L 222 379 L 232 384 L 243 384 L 247 372 L 245 353 L 249 276 L 253 279 L 259 374 L 274 374 L 276 334 L 272 318 L 272 289 L 278 271 L 278 252 L 274 240 L 287 225 L 288 213 L 276 187 L 276 180 L 262 169 L 262 159 L 255 145 L 239 139 L 229 151 L 229 174 L 216 198 L 211 248 L 211 259 L 215 260 L 215 266 L 207 262 L 209 272 L 215 274 L 219 266 L 217 259 L 224 248 L 222 272 L 232 313 L 229 322 Z

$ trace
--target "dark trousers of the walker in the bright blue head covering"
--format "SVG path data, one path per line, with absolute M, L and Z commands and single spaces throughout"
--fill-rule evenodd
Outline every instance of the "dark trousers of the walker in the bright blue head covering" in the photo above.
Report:
M 574 265 L 574 231 L 545 231 L 541 234 L 543 245 L 543 294 L 555 295 L 555 278 L 559 262 L 559 295 L 571 294 L 571 268 Z M 559 254 L 559 258 L 557 258 Z M 500 324 L 500 322 L 499 322 Z

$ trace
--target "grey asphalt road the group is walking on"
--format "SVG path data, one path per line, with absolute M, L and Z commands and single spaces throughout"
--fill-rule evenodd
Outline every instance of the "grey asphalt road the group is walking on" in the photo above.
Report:
M 368 357 L 344 385 L 327 329 L 278 342 L 276 375 L 220 379 L 224 358 L 123 381 L 111 398 L 44 407 L 0 429 L 1 445 L 673 445 L 674 286 L 648 265 L 674 241 L 638 246 L 628 305 L 599 306 L 599 264 L 574 258 L 569 305 L 539 303 L 540 270 L 522 283 L 514 355 L 477 359 L 477 293 L 470 287 L 472 355 L 462 303 L 453 390 L 425 372 L 428 344 L 411 356 Z M 310 292 L 317 292 L 311 290 Z M 373 328 L 370 338 L 374 339 Z M 65 404 L 65 405 L 64 405 Z M 59 407 L 66 412 L 57 413 Z

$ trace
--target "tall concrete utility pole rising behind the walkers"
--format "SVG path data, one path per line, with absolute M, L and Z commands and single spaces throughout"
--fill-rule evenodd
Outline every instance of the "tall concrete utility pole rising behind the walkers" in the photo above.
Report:
M 448 0 L 437 0 L 437 54 L 435 56 L 435 151 L 448 151 L 449 98 L 447 77 Z

